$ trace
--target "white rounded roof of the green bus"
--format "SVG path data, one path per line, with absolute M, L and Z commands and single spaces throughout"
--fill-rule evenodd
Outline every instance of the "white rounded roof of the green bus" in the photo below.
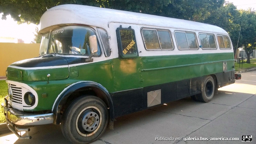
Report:
M 47 27 L 61 24 L 83 24 L 108 29 L 109 22 L 227 34 L 220 27 L 200 22 L 76 4 L 58 5 L 47 10 L 40 19 L 39 33 L 48 31 Z

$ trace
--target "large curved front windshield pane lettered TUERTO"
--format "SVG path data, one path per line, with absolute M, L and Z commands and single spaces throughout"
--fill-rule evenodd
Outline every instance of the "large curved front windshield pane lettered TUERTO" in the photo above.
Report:
M 89 36 L 96 33 L 82 26 L 67 26 L 52 30 L 49 37 L 48 54 L 90 55 Z M 101 55 L 98 42 L 96 55 Z

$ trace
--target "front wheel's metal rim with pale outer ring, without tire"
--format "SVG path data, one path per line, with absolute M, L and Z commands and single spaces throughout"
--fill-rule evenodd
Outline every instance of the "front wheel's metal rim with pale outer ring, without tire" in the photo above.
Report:
M 101 122 L 101 111 L 94 106 L 86 107 L 76 118 L 76 130 L 80 135 L 88 137 L 98 131 Z

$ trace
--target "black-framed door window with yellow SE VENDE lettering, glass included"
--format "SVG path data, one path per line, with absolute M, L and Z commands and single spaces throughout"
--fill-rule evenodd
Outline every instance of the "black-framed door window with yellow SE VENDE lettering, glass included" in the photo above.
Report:
M 134 30 L 130 28 L 117 28 L 116 34 L 120 58 L 139 57 Z

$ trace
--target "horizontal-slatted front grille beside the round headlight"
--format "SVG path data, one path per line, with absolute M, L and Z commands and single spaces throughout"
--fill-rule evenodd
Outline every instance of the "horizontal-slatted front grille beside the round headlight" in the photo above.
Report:
M 10 83 L 8 85 L 12 87 L 13 91 L 12 102 L 22 104 L 22 87 Z

